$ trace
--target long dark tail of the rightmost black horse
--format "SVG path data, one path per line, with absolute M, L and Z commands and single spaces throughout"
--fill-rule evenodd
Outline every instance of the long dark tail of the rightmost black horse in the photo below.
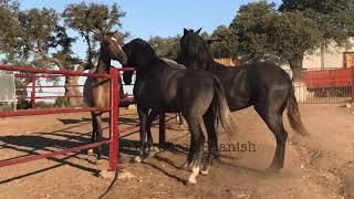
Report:
M 305 129 L 299 111 L 298 101 L 294 95 L 294 86 L 291 84 L 291 88 L 288 94 L 288 118 L 292 129 L 301 134 L 302 136 L 309 136 L 308 130 Z

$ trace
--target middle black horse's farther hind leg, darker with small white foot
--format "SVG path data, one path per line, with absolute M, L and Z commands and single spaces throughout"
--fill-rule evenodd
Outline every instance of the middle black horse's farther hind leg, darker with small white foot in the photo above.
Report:
M 218 151 L 218 137 L 217 137 L 217 124 L 216 124 L 216 117 L 212 113 L 212 109 L 209 108 L 207 114 L 204 116 L 204 122 L 206 125 L 206 130 L 208 135 L 208 157 L 204 164 L 204 168 L 200 170 L 202 175 L 208 175 L 209 167 L 212 164 L 214 159 L 219 158 L 219 151 Z

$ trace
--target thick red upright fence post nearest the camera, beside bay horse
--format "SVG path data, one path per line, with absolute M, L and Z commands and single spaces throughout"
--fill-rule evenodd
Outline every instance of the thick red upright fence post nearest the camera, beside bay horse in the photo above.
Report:
M 118 104 L 119 104 L 119 85 L 118 85 L 118 69 L 110 69 L 110 170 L 115 171 L 117 169 L 118 158 Z

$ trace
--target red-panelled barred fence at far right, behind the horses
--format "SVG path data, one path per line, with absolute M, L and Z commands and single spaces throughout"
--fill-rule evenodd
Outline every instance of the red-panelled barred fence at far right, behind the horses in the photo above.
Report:
M 285 70 L 291 74 L 289 70 Z M 294 82 L 295 96 L 304 104 L 348 103 L 354 101 L 354 67 L 302 71 Z

